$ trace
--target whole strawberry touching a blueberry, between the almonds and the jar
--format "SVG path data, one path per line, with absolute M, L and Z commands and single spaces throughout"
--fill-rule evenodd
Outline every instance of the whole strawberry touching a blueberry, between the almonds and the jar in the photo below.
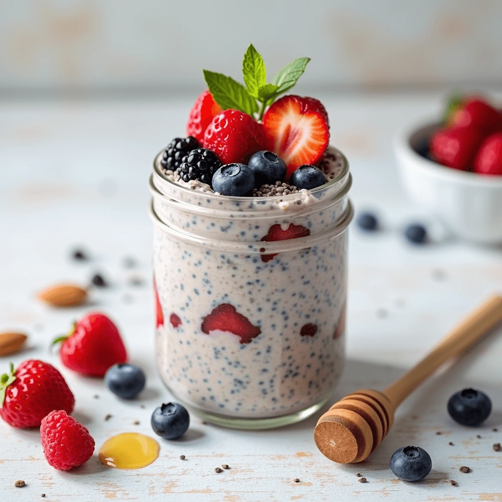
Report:
M 90 312 L 77 321 L 59 349 L 61 362 L 85 376 L 104 376 L 117 362 L 127 362 L 126 347 L 117 327 L 100 312 Z

